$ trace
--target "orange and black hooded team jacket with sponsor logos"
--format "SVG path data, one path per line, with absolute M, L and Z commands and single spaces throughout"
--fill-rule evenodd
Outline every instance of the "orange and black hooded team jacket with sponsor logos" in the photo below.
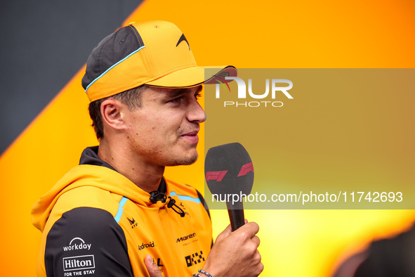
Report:
M 33 207 L 32 223 L 43 233 L 37 276 L 148 276 L 147 254 L 163 276 L 202 269 L 212 243 L 202 195 L 166 179 L 150 195 L 97 150 L 86 148 L 80 165 Z

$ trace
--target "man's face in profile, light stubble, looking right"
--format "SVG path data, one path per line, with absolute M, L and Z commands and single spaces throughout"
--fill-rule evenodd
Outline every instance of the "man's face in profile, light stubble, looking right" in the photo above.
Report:
M 205 113 L 197 102 L 202 86 L 187 89 L 148 87 L 141 107 L 125 113 L 133 155 L 152 165 L 190 165 L 197 160 L 199 124 Z

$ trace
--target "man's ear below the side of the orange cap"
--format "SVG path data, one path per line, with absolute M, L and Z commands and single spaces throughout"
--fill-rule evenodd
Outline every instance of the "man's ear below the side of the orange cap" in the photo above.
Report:
M 101 103 L 103 123 L 114 129 L 124 129 L 124 104 L 115 99 L 106 99 Z

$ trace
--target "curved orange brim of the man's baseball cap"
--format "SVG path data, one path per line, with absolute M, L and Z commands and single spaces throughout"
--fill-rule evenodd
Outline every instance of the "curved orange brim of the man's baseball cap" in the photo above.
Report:
M 237 69 L 232 65 L 187 67 L 145 84 L 150 86 L 191 87 L 199 84 L 217 84 L 232 81 L 226 80 L 225 77 L 237 77 Z

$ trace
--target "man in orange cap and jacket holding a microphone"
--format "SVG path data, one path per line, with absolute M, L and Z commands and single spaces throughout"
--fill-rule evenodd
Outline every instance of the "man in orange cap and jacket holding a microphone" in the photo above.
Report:
M 134 23 L 93 49 L 82 85 L 100 143 L 34 205 L 38 276 L 261 273 L 257 224 L 228 226 L 212 246 L 202 195 L 163 177 L 197 159 L 201 84 L 236 75 L 205 68 L 170 22 Z

